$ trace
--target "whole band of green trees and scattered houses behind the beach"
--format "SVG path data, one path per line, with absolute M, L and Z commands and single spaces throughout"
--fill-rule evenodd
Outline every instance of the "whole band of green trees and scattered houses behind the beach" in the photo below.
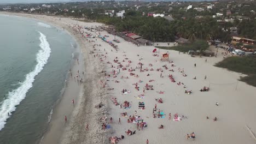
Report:
M 14 12 L 84 18 L 113 25 L 118 32 L 133 32 L 153 42 L 173 41 L 176 35 L 190 41 L 219 39 L 229 43 L 231 34 L 234 34 L 230 32 L 231 27 L 237 27 L 237 34 L 241 37 L 256 39 L 254 1 L 89 1 L 48 3 L 47 5 L 50 6 L 43 7 L 43 4 L 36 3 L 6 4 L 0 5 L 0 11 L 8 8 L 7 11 Z M 193 5 L 193 8 L 187 9 L 188 5 Z M 207 9 L 206 6 L 209 5 L 214 6 L 212 9 Z M 30 10 L 31 8 L 34 10 Z M 197 11 L 194 8 L 204 10 Z M 105 15 L 107 10 L 114 10 L 115 13 Z M 119 10 L 125 10 L 123 19 L 116 17 Z M 227 11 L 231 14 L 227 14 Z M 174 21 L 168 21 L 163 17 L 147 16 L 148 13 L 171 15 Z

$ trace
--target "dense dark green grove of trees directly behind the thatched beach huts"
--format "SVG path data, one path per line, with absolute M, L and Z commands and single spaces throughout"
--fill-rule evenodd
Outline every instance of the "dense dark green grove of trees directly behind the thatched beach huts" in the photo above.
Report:
M 196 39 L 230 41 L 230 32 L 223 31 L 218 22 L 211 17 L 169 22 L 163 17 L 126 15 L 123 19 L 103 16 L 97 21 L 115 26 L 118 32 L 136 33 L 151 41 L 174 41 L 175 36 L 189 39 L 190 41 Z

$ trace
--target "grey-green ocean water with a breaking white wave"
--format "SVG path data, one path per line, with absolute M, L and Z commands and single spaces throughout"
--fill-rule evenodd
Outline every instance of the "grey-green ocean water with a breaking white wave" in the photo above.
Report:
M 1 144 L 42 139 L 65 88 L 76 46 L 62 29 L 0 14 Z

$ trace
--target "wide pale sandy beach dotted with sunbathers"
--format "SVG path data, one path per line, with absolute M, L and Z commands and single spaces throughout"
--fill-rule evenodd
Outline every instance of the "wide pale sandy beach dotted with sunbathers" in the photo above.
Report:
M 107 40 L 120 41 L 113 42 L 118 47 L 116 52 L 100 38 L 83 37 L 86 32 L 96 35 L 96 31 L 83 27 L 102 26 L 101 23 L 45 15 L 14 15 L 64 28 L 80 47 L 77 50 L 79 65 L 74 64 L 73 77 L 67 81 L 65 93 L 53 111 L 49 131 L 40 143 L 109 143 L 110 136 L 121 135 L 124 139 L 118 143 L 146 143 L 147 139 L 149 143 L 255 143 L 256 88 L 238 81 L 242 74 L 214 67 L 223 59 L 220 53 L 217 57 L 202 58 L 168 50 L 153 53 L 154 46 L 136 46 L 101 31 L 101 35 L 109 36 Z M 169 61 L 160 61 L 164 53 L 169 53 Z M 80 85 L 74 81 L 77 70 L 84 81 Z M 210 91 L 200 92 L 203 87 L 209 87 Z M 153 90 L 147 90 L 151 88 Z M 127 92 L 123 93 L 123 89 Z M 191 94 L 185 93 L 186 90 L 191 90 Z M 155 100 L 160 98 L 162 103 Z M 124 102 L 129 103 L 127 109 Z M 157 110 L 153 113 L 155 105 Z M 138 109 L 142 107 L 144 109 Z M 127 116 L 122 116 L 125 112 Z M 129 116 L 134 123 L 127 122 Z M 217 121 L 213 121 L 214 117 Z M 142 120 L 147 127 L 137 129 L 136 123 Z M 106 124 L 106 130 L 102 124 Z M 164 128 L 159 129 L 160 125 Z M 136 132 L 127 135 L 127 130 Z M 195 139 L 187 140 L 186 135 L 193 132 Z

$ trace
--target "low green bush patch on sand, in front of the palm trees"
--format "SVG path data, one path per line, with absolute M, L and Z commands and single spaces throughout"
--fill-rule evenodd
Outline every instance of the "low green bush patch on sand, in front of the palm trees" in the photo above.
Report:
M 181 51 L 181 52 L 188 52 L 189 50 L 194 51 L 205 51 L 209 45 L 204 40 L 196 40 L 194 43 L 191 44 L 182 44 L 172 47 L 166 47 L 166 46 L 156 46 L 159 49 L 165 49 L 165 50 L 175 50 L 175 51 Z

